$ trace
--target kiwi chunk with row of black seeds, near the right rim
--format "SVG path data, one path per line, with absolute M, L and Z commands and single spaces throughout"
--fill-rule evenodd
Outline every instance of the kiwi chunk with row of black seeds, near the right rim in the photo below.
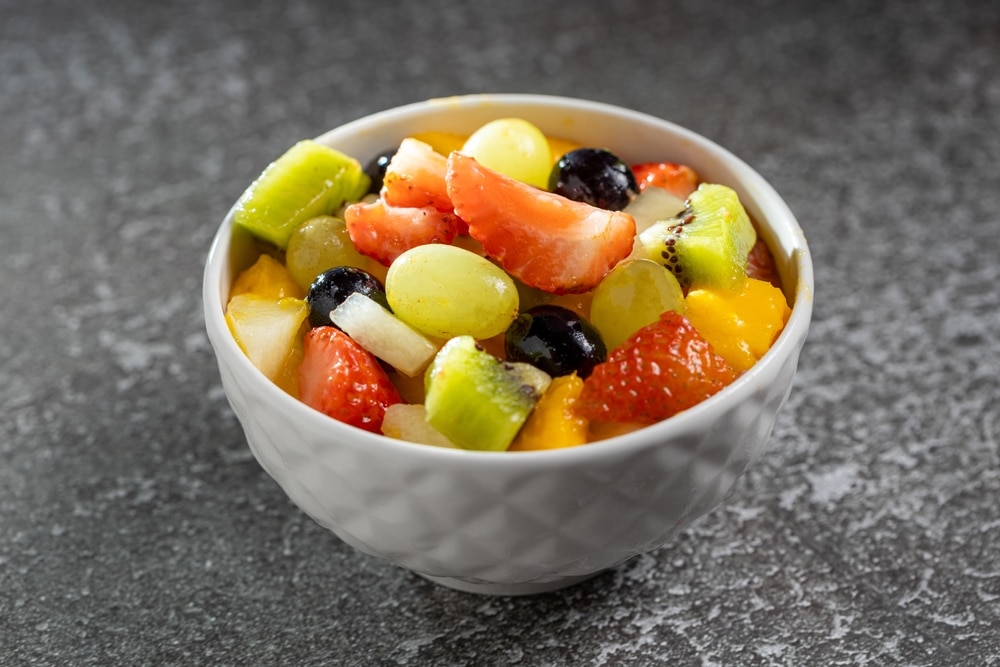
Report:
M 737 289 L 756 241 L 739 196 L 715 183 L 698 186 L 683 211 L 639 235 L 645 254 L 673 272 L 684 288 Z

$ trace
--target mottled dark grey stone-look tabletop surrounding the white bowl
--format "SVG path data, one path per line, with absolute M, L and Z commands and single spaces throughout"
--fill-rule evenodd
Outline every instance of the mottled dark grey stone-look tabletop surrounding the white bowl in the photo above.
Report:
M 539 597 L 307 519 L 201 316 L 210 238 L 270 159 L 483 91 L 727 146 L 818 285 L 730 501 Z M 0 0 L 0 665 L 1000 665 L 998 121 L 993 2 Z

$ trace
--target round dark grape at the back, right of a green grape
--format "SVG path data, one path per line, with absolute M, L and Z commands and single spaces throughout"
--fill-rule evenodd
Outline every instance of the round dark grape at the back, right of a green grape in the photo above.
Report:
M 608 211 L 622 210 L 639 194 L 631 167 L 601 148 L 578 148 L 559 158 L 548 189 Z

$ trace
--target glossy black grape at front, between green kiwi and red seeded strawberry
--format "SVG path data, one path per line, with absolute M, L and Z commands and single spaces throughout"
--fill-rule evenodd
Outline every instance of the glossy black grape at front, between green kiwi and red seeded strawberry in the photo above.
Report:
M 529 363 L 552 376 L 587 377 L 607 356 L 601 334 L 590 322 L 554 305 L 518 315 L 507 328 L 504 351 L 508 360 Z

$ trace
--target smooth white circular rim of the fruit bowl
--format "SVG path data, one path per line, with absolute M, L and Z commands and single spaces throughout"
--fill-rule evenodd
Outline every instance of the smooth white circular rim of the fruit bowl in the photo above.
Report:
M 522 466 L 532 468 L 538 466 L 562 467 L 570 462 L 586 465 L 596 460 L 606 459 L 610 454 L 616 457 L 626 456 L 634 449 L 655 446 L 677 436 L 701 430 L 700 425 L 703 425 L 706 419 L 711 418 L 711 412 L 717 409 L 718 404 L 723 402 L 733 405 L 742 403 L 760 388 L 762 382 L 760 376 L 767 373 L 772 366 L 779 364 L 779 358 L 798 354 L 805 341 L 812 316 L 814 289 L 812 259 L 805 235 L 787 203 L 763 176 L 734 153 L 701 134 L 651 114 L 604 102 L 556 95 L 502 93 L 458 95 L 411 102 L 349 121 L 318 135 L 316 139 L 322 141 L 326 137 L 355 132 L 372 125 L 395 123 L 413 114 L 426 113 L 439 105 L 463 107 L 481 105 L 486 102 L 499 106 L 525 104 L 554 106 L 566 111 L 577 110 L 608 114 L 626 121 L 629 119 L 640 120 L 643 123 L 662 126 L 673 134 L 694 142 L 699 149 L 708 150 L 714 153 L 715 157 L 722 158 L 727 166 L 738 173 L 742 184 L 753 186 L 754 195 L 758 200 L 767 202 L 768 208 L 771 210 L 770 214 L 767 220 L 759 221 L 759 223 L 771 228 L 771 220 L 782 219 L 782 226 L 794 236 L 795 242 L 791 248 L 790 261 L 795 265 L 796 286 L 794 294 L 786 292 L 786 296 L 793 297 L 791 315 L 777 340 L 756 364 L 717 394 L 656 424 L 605 440 L 562 449 L 499 452 L 452 449 L 397 440 L 338 422 L 307 406 L 271 382 L 250 363 L 240 350 L 226 325 L 225 304 L 221 296 L 221 279 L 228 266 L 230 242 L 234 230 L 232 222 L 236 206 L 234 202 L 213 236 L 205 260 L 202 283 L 205 326 L 216 355 L 224 357 L 230 363 L 237 364 L 244 371 L 244 374 L 249 374 L 259 380 L 260 390 L 264 392 L 264 400 L 269 403 L 273 402 L 284 413 L 291 414 L 296 419 L 309 422 L 312 431 L 328 430 L 331 442 L 350 443 L 357 447 L 385 448 L 385 453 L 389 455 L 427 457 L 429 460 L 440 460 L 449 465 L 502 466 L 509 470 L 517 470 Z M 219 361 L 223 360 L 219 359 Z

